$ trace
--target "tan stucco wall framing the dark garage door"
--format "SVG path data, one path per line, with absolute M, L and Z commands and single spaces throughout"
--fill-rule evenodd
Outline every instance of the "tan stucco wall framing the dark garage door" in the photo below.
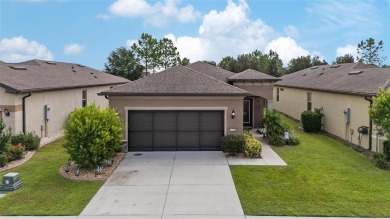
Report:
M 110 107 L 118 110 L 127 127 L 127 110 L 224 110 L 225 134 L 243 133 L 243 99 L 244 97 L 186 97 L 186 96 L 141 96 L 141 97 L 109 97 Z M 234 110 L 235 117 L 231 118 Z M 231 132 L 230 129 L 236 129 Z M 123 133 L 127 139 L 127 128 Z

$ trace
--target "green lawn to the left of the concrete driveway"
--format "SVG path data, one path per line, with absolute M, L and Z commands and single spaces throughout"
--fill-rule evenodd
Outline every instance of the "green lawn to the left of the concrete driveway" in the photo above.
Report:
M 69 159 L 58 140 L 40 148 L 23 165 L 1 172 L 20 174 L 23 187 L 0 199 L 0 215 L 79 215 L 103 181 L 74 181 L 59 169 Z

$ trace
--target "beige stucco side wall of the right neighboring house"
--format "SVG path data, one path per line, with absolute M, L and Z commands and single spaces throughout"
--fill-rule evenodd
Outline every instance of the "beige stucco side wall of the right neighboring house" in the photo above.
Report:
M 279 101 L 276 101 L 277 88 L 277 86 L 274 88 L 274 109 L 300 120 L 301 113 L 307 110 L 307 93 L 311 92 L 312 109 L 320 107 L 324 109 L 323 129 L 344 140 L 359 145 L 358 127 L 369 126 L 369 102 L 363 96 L 279 87 L 283 90 L 280 90 Z M 344 122 L 344 109 L 347 107 L 351 110 L 349 124 Z M 352 135 L 351 130 L 353 130 Z M 375 134 L 376 132 L 373 130 L 373 150 L 376 149 Z M 363 135 L 360 144 L 362 147 L 368 148 L 369 136 Z

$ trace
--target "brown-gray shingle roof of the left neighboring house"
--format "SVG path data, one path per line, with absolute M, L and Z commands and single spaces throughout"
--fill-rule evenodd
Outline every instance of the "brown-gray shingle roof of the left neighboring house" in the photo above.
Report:
M 83 65 L 43 60 L 0 65 L 0 86 L 10 93 L 124 84 L 128 80 Z

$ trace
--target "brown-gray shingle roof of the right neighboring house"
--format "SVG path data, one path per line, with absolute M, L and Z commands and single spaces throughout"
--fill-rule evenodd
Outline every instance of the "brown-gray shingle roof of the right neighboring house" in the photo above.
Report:
M 341 64 L 338 67 L 323 65 L 281 78 L 282 81 L 277 82 L 276 86 L 373 96 L 379 87 L 390 87 L 390 68 L 361 63 Z

